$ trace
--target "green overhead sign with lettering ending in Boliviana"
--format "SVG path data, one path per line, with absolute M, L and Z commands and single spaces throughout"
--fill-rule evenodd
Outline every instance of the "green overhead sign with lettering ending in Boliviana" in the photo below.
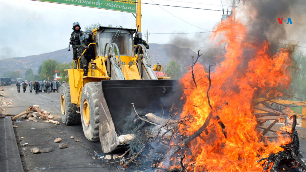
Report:
M 32 0 L 136 13 L 136 0 Z

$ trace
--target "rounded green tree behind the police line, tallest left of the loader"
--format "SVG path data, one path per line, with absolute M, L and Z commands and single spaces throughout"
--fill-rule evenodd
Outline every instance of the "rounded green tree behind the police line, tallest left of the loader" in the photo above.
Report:
M 47 80 L 53 80 L 53 75 L 55 74 L 56 66 L 59 62 L 55 59 L 44 60 L 39 66 L 39 77 L 45 77 Z

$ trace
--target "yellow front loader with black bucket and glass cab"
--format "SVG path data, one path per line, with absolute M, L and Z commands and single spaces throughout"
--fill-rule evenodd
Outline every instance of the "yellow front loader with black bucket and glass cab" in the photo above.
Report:
M 97 45 L 88 76 L 83 77 L 80 66 L 66 70 L 69 83 L 60 91 L 62 120 L 65 125 L 81 123 L 86 138 L 100 140 L 108 153 L 126 146 L 117 133 L 122 133 L 132 103 L 136 109 L 169 107 L 166 97 L 175 81 L 156 77 L 161 65 L 152 64 L 146 47 L 133 45 L 135 29 L 100 26 L 92 32 Z

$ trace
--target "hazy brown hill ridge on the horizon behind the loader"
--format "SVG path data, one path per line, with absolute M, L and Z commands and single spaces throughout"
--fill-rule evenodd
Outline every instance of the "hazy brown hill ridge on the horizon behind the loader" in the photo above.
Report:
M 177 59 L 178 62 L 184 64 L 187 57 L 196 55 L 196 53 L 189 48 L 180 48 L 173 44 L 149 43 L 149 46 L 149 53 L 154 64 L 166 64 L 170 59 Z M 24 75 L 25 71 L 30 68 L 34 73 L 37 73 L 39 65 L 47 59 L 56 59 L 63 63 L 71 62 L 73 54 L 72 48 L 70 49 L 71 51 L 67 51 L 67 48 L 65 48 L 50 53 L 0 60 L 0 76 L 8 70 L 20 70 Z

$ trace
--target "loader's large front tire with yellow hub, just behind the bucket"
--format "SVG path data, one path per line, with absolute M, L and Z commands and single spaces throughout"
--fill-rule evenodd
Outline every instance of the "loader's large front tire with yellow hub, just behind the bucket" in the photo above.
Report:
M 100 82 L 86 83 L 81 94 L 81 121 L 85 137 L 89 141 L 99 140 L 99 90 Z

